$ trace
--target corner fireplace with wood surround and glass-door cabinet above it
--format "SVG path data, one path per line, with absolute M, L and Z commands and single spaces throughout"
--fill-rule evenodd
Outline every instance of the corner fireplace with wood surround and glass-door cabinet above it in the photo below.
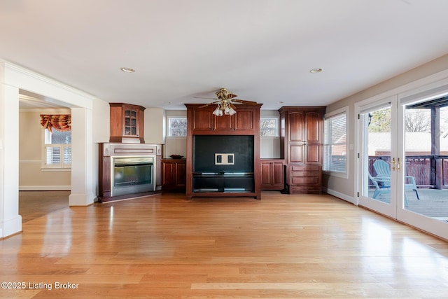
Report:
M 144 106 L 109 103 L 109 143 L 99 144 L 98 201 L 154 194 L 162 189 L 162 144 L 145 144 Z

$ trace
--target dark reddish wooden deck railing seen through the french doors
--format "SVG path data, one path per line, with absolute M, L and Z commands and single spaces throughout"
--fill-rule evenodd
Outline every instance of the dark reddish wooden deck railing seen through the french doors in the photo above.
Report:
M 375 176 L 373 163 L 376 160 L 391 162 L 386 155 L 369 156 L 369 172 Z M 438 164 L 438 165 L 437 165 Z M 437 169 L 438 172 L 437 172 Z M 405 158 L 407 176 L 414 176 L 416 185 L 421 188 L 448 188 L 448 155 L 407 155 Z M 437 180 L 440 183 L 437 183 Z

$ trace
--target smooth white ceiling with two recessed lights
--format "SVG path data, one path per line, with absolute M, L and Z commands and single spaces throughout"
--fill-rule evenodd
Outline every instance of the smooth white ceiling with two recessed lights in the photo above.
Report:
M 448 53 L 447 12 L 447 0 L 0 0 L 0 59 L 106 102 L 185 109 L 228 88 L 262 109 L 326 106 Z

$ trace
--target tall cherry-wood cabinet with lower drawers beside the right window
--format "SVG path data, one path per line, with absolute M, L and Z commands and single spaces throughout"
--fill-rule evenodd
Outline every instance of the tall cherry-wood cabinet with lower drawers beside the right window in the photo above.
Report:
M 289 193 L 321 193 L 325 107 L 281 107 L 281 151 Z

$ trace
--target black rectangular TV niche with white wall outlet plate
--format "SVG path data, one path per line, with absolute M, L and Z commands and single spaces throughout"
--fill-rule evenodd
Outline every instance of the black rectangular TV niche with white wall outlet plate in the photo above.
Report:
M 193 172 L 253 172 L 253 136 L 194 135 Z

